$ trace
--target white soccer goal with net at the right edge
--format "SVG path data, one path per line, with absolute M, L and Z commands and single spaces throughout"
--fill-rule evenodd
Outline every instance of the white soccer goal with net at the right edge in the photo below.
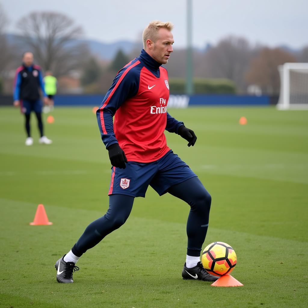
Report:
M 285 63 L 278 66 L 280 94 L 277 108 L 308 109 L 308 63 Z

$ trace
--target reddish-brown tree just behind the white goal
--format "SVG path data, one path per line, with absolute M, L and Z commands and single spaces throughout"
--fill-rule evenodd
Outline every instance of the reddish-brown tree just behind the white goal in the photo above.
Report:
M 266 94 L 277 95 L 280 89 L 278 65 L 286 62 L 296 62 L 296 60 L 293 55 L 279 48 L 263 48 L 251 61 L 246 80 L 261 87 L 262 92 Z

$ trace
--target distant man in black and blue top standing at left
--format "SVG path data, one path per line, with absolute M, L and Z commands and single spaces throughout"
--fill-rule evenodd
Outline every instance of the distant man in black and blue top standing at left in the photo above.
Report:
M 26 145 L 33 144 L 30 133 L 30 114 L 35 112 L 40 132 L 39 143 L 51 144 L 52 141 L 44 136 L 42 121 L 42 102 L 39 90 L 44 95 L 44 103 L 48 103 L 48 98 L 44 90 L 41 68 L 33 64 L 32 52 L 25 52 L 22 57 L 22 66 L 18 67 L 14 82 L 14 106 L 20 106 L 21 112 L 25 115 L 27 139 Z

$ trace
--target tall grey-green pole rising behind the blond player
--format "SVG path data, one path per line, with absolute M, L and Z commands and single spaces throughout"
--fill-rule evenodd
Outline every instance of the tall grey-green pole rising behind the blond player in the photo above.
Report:
M 187 51 L 186 51 L 186 94 L 193 94 L 193 26 L 192 26 L 192 0 L 186 1 L 187 11 Z

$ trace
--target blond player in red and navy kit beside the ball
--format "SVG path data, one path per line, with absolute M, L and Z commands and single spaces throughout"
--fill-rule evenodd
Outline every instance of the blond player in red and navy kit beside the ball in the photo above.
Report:
M 209 225 L 211 196 L 197 175 L 166 144 L 164 131 L 188 141 L 195 133 L 167 112 L 167 70 L 173 52 L 171 22 L 151 22 L 143 32 L 144 49 L 116 75 L 97 110 L 103 143 L 112 164 L 107 213 L 87 226 L 72 249 L 55 264 L 57 281 L 73 282 L 81 255 L 127 220 L 135 197 L 145 197 L 148 185 L 161 196 L 169 193 L 190 205 L 187 255 L 183 279 L 214 281 L 200 262 Z M 115 116 L 114 123 L 112 117 Z

